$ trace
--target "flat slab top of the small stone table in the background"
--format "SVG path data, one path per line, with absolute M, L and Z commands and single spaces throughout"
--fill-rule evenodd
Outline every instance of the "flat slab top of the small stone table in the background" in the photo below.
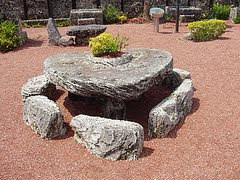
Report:
M 106 29 L 106 26 L 97 24 L 74 26 L 67 31 L 67 35 L 79 37 L 96 37 L 99 34 L 105 32 Z

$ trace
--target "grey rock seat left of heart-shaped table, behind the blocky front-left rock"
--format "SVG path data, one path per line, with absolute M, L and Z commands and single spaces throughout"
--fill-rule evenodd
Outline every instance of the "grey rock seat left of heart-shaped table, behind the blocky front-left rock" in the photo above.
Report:
M 36 95 L 43 95 L 50 97 L 56 90 L 56 86 L 46 78 L 45 75 L 33 77 L 28 80 L 22 87 L 23 102 L 30 97 Z

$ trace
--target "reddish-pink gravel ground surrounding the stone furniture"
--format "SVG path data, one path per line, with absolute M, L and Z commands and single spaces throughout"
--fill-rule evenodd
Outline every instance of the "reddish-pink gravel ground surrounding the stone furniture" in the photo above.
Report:
M 228 24 L 221 39 L 201 43 L 182 40 L 185 26 L 179 34 L 171 24 L 158 34 L 152 24 L 108 27 L 128 36 L 130 48 L 171 52 L 196 88 L 194 109 L 180 128 L 146 139 L 140 160 L 117 162 L 91 155 L 71 133 L 46 141 L 23 123 L 20 88 L 27 79 L 42 74 L 51 55 L 88 49 L 48 47 L 45 28 L 27 29 L 24 47 L 0 54 L 0 179 L 240 179 L 240 26 Z

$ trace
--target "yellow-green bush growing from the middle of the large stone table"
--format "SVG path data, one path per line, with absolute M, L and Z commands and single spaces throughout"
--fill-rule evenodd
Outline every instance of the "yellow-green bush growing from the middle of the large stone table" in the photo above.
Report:
M 89 47 L 94 56 L 116 54 L 126 47 L 127 37 L 113 37 L 111 34 L 102 33 L 95 38 L 90 38 Z

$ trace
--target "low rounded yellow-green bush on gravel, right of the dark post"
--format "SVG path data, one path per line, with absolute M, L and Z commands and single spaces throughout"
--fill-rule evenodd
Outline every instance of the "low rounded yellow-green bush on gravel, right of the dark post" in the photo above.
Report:
M 226 30 L 223 20 L 196 21 L 188 24 L 194 41 L 208 41 L 220 37 Z

